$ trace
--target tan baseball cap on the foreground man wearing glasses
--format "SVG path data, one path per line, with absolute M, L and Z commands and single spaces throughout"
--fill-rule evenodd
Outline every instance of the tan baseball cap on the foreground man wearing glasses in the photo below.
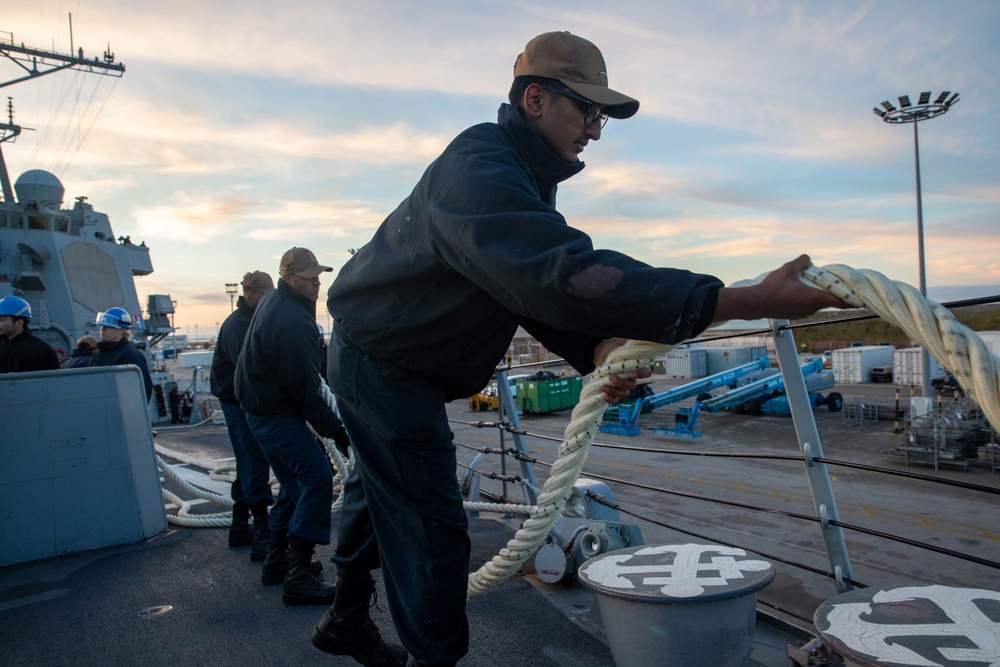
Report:
M 608 88 L 608 66 L 592 42 L 568 32 L 535 37 L 514 61 L 514 76 L 558 79 L 578 95 L 597 102 L 612 118 L 631 118 L 638 100 Z

